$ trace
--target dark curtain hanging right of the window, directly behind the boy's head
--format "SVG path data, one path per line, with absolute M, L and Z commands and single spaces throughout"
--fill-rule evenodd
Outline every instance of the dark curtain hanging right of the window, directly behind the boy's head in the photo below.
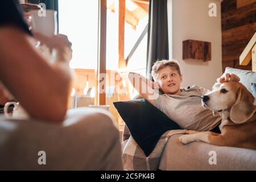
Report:
M 156 60 L 169 59 L 167 0 L 150 0 L 147 38 L 147 77 Z

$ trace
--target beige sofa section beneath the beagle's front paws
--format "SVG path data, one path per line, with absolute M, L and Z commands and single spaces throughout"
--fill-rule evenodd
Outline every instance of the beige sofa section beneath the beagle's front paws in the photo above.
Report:
M 160 159 L 160 170 L 256 170 L 256 150 L 203 142 L 184 145 L 179 137 L 169 138 Z M 216 164 L 209 164 L 215 154 Z

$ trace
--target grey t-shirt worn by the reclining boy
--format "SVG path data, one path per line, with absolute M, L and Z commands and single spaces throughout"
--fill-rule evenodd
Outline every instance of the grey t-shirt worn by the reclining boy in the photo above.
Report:
M 219 114 L 213 115 L 212 110 L 201 105 L 200 97 L 208 91 L 197 85 L 181 88 L 180 96 L 159 95 L 155 106 L 183 129 L 209 131 L 220 123 L 221 117 Z

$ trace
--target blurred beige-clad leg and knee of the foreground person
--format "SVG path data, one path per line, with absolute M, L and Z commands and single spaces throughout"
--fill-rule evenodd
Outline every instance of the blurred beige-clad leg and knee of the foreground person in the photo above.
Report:
M 119 133 L 106 110 L 80 107 L 63 123 L 0 116 L 0 171 L 122 170 Z

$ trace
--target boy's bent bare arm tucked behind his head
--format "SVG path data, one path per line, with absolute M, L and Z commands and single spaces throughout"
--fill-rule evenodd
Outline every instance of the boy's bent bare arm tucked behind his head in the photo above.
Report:
M 155 99 L 159 96 L 153 89 L 156 87 L 155 82 L 139 75 L 138 73 L 129 73 L 128 78 L 137 92 L 150 102 L 150 104 L 155 105 Z

